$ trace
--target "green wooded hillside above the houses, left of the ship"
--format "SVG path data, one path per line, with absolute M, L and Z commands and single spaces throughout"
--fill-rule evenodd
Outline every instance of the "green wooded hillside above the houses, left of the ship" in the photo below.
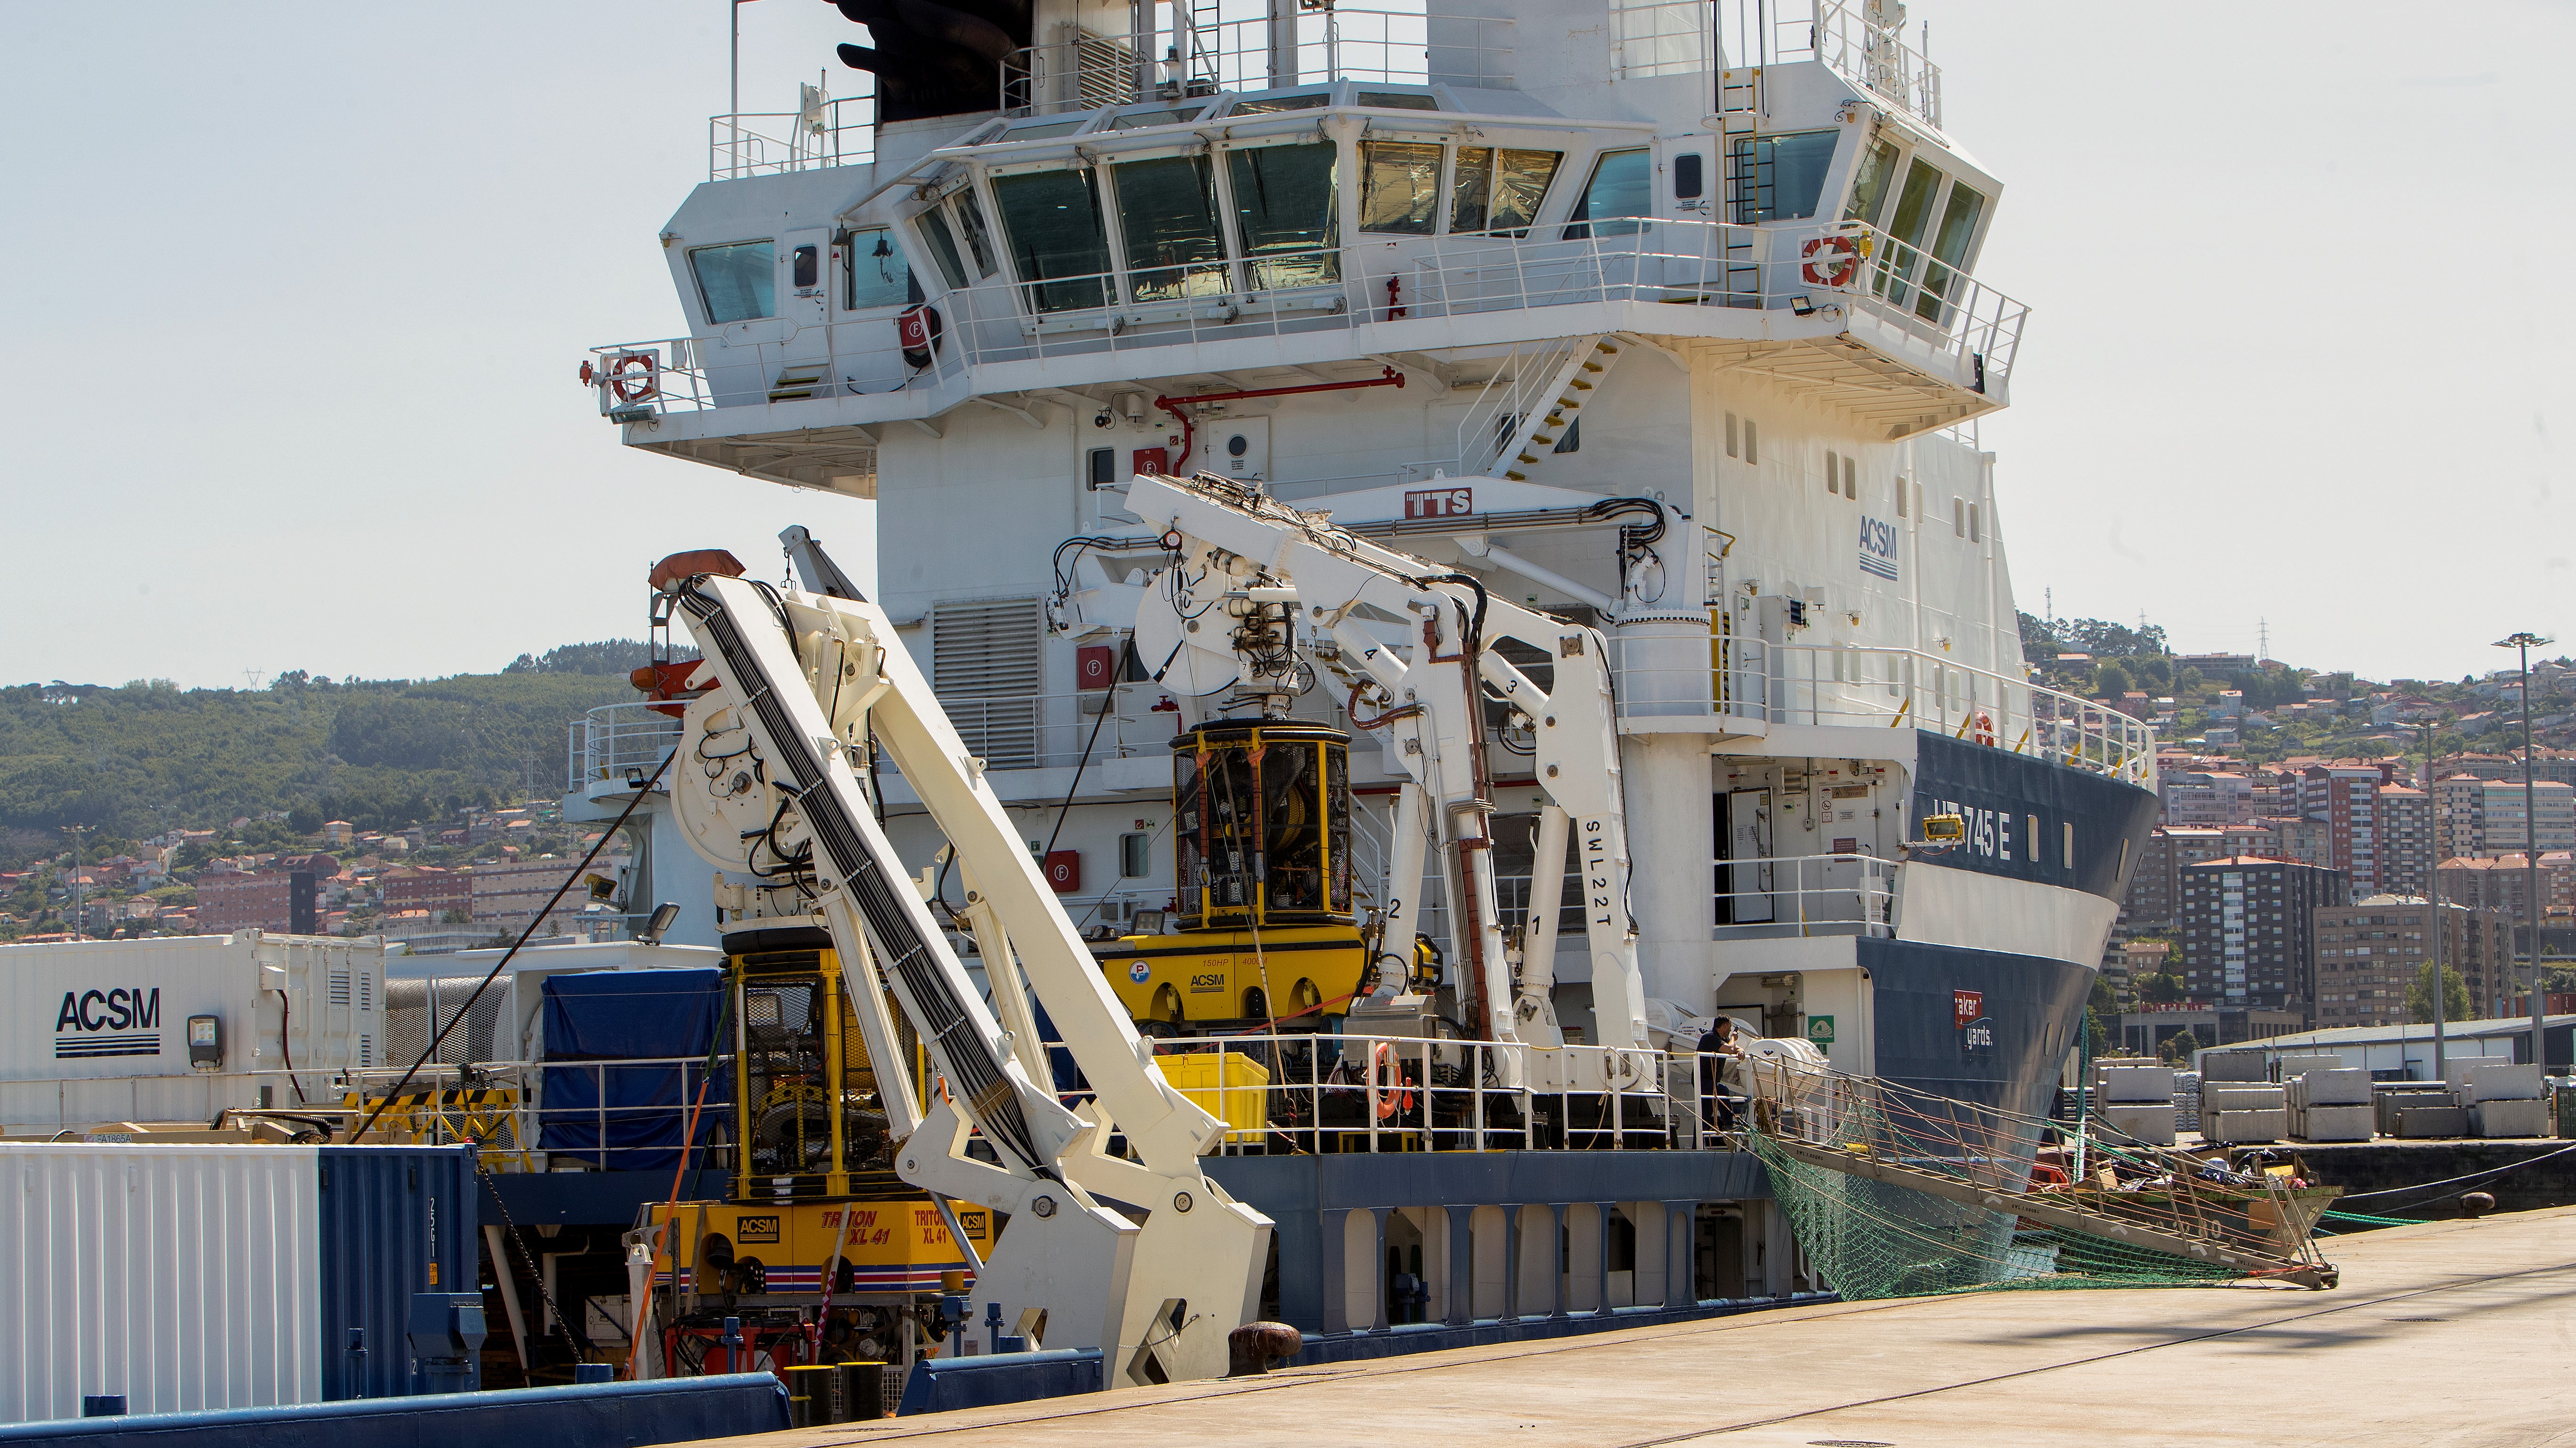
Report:
M 85 858 L 242 817 L 216 853 L 281 850 L 325 819 L 399 830 L 554 796 L 567 724 L 636 698 L 626 672 L 644 657 L 644 644 L 611 639 L 520 654 L 495 675 L 417 683 L 294 670 L 260 691 L 8 685 L 0 866 L 52 858 L 67 824 L 93 832 Z

